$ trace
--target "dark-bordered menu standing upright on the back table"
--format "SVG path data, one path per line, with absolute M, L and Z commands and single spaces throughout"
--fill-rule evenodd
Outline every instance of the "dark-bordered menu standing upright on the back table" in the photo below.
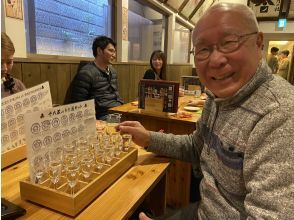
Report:
M 177 112 L 179 82 L 140 80 L 139 108 L 152 112 Z

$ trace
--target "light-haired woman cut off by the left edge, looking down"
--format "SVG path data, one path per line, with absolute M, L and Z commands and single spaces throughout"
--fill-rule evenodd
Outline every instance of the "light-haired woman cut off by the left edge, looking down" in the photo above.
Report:
M 1 98 L 25 90 L 24 84 L 11 76 L 14 45 L 4 32 L 1 33 Z

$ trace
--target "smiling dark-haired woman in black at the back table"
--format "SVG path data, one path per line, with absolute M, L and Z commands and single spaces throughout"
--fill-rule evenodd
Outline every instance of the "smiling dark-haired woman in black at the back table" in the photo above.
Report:
M 143 79 L 165 80 L 166 58 L 161 50 L 155 50 L 150 57 L 151 69 L 148 69 Z

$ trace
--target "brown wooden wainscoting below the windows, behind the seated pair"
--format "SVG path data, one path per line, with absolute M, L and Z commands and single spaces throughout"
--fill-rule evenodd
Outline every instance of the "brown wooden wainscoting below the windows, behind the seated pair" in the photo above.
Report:
M 28 62 L 29 61 L 29 62 Z M 13 67 L 14 76 L 22 80 L 27 88 L 49 81 L 52 101 L 54 104 L 70 103 L 71 82 L 77 74 L 79 63 L 46 61 L 34 62 L 20 60 Z M 119 93 L 124 102 L 137 99 L 138 83 L 145 71 L 150 68 L 148 63 L 117 63 L 113 67 L 118 73 Z M 180 82 L 181 76 L 192 75 L 192 65 L 168 64 L 167 80 Z

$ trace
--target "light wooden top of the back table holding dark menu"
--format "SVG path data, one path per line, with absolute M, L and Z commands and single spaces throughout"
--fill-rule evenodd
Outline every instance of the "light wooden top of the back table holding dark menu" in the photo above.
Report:
M 178 112 L 179 111 L 187 112 L 186 110 L 184 110 L 184 107 L 187 106 L 189 100 L 199 100 L 199 98 L 196 98 L 195 96 L 179 97 Z M 144 112 L 142 109 L 139 109 L 136 103 L 137 102 L 130 102 L 124 105 L 113 107 L 110 109 L 110 112 L 120 112 L 124 114 L 129 113 L 129 114 L 137 114 L 137 115 L 144 114 L 145 116 L 158 117 L 161 120 L 183 121 L 186 123 L 193 123 L 193 124 L 200 118 L 202 113 L 202 107 L 200 107 L 201 110 L 197 112 L 190 112 L 191 117 L 180 117 L 180 114 L 176 114 L 176 113 L 153 114 L 153 113 Z

